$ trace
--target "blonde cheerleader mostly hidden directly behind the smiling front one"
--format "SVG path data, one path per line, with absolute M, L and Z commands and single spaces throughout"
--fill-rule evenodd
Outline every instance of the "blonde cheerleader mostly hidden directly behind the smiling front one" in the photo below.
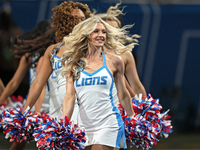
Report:
M 106 13 L 97 14 L 97 16 L 99 16 L 101 19 L 106 21 L 109 25 L 111 25 L 115 28 L 121 28 L 121 21 L 118 19 L 118 17 L 119 17 L 119 15 L 123 15 L 123 9 L 122 10 L 119 9 L 120 4 L 121 3 L 117 3 L 115 6 L 109 7 L 109 9 L 107 10 Z M 132 26 L 133 25 L 126 25 L 122 28 L 128 29 L 128 28 L 132 28 Z M 134 39 L 130 39 L 130 40 L 133 40 L 135 42 L 135 45 L 138 45 L 137 38 L 139 38 L 140 36 L 134 34 L 133 37 L 134 37 Z M 118 37 L 118 38 L 123 44 L 130 42 L 130 41 L 127 41 L 127 39 L 123 39 L 120 37 Z M 142 94 L 143 97 L 146 97 L 147 96 L 146 91 L 145 91 L 145 88 L 142 85 L 140 78 L 138 76 L 135 59 L 133 57 L 132 52 L 126 51 L 123 54 L 121 54 L 120 56 L 122 57 L 122 59 L 124 61 L 124 66 L 125 66 L 124 75 L 127 80 L 126 87 L 129 90 L 131 97 L 134 97 L 135 94 L 136 95 Z

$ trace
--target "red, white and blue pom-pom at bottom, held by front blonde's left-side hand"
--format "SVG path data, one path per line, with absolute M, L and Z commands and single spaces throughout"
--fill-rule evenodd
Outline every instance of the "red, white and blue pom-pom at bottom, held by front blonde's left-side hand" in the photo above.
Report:
M 34 131 L 35 141 L 39 149 L 84 149 L 85 131 L 77 124 L 65 119 L 47 118 Z

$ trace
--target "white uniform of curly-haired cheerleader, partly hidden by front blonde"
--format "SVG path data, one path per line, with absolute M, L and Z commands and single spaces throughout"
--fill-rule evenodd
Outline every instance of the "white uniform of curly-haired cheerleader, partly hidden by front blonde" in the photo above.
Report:
M 57 51 L 61 45 L 62 45 L 62 43 L 57 48 Z M 54 57 L 53 71 L 55 72 L 55 75 L 57 76 L 57 88 L 58 88 L 58 93 L 59 93 L 58 94 L 59 101 L 57 101 L 57 110 L 59 112 L 58 112 L 57 118 L 61 118 L 62 117 L 62 102 L 66 95 L 66 78 L 62 76 L 63 68 L 62 68 L 61 57 L 56 56 L 56 52 L 53 55 L 53 57 Z M 73 120 L 74 123 L 78 122 L 78 113 L 79 113 L 78 105 L 77 105 L 77 103 L 75 103 L 74 111 L 73 111 L 73 114 L 71 117 L 71 120 Z

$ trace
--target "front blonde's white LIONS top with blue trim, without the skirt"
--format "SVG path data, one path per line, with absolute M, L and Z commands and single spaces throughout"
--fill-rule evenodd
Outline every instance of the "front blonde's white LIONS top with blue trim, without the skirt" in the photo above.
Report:
M 115 106 L 118 99 L 113 99 L 113 76 L 106 65 L 103 52 L 102 56 L 102 67 L 93 73 L 79 68 L 80 78 L 74 82 L 80 117 L 86 131 L 123 127 L 120 112 Z

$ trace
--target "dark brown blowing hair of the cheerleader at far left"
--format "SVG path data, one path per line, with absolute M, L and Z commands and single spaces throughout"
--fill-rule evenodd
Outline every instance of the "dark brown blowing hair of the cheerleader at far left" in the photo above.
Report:
M 55 30 L 51 27 L 50 21 L 44 20 L 39 22 L 32 31 L 19 35 L 14 41 L 11 52 L 16 58 L 28 54 L 27 62 L 32 67 L 36 67 L 40 56 L 43 56 L 46 49 L 55 42 Z M 33 62 L 29 62 L 29 57 L 32 56 L 38 57 Z

